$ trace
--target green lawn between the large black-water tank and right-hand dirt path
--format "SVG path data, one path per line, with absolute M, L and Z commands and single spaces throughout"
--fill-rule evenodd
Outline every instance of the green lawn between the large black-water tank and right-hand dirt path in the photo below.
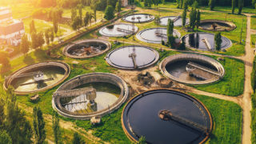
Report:
M 214 130 L 206 143 L 241 143 L 242 108 L 234 102 L 192 94 L 205 104 L 214 121 Z

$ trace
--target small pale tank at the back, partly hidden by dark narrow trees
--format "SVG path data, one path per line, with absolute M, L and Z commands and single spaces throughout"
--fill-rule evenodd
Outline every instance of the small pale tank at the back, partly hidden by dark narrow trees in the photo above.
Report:
M 162 18 L 160 18 L 160 25 L 167 26 L 169 19 L 174 21 L 174 26 L 182 26 L 182 17 L 180 17 L 180 16 L 178 16 L 178 17 L 177 16 L 162 17 Z M 188 25 L 189 23 L 190 23 L 190 19 L 186 18 L 186 25 Z

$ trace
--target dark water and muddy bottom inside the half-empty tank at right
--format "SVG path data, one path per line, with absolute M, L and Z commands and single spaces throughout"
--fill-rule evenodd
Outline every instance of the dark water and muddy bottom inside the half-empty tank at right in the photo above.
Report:
M 189 62 L 194 62 L 194 61 L 183 60 L 183 61 L 170 62 L 166 65 L 166 70 L 169 74 L 173 75 L 176 78 L 181 78 L 188 81 L 203 81 L 203 79 L 201 78 L 195 78 L 193 76 L 190 76 L 189 72 L 186 71 L 186 65 Z M 200 66 L 206 66 L 211 70 L 218 71 L 214 66 L 211 66 L 210 64 L 206 64 L 203 62 L 194 62 L 194 63 L 197 63 Z

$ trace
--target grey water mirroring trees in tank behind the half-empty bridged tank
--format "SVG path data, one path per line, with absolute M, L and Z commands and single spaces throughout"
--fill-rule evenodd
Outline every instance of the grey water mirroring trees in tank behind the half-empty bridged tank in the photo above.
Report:
M 187 45 L 194 47 L 198 50 L 208 50 L 206 43 L 203 42 L 203 39 L 205 38 L 208 40 L 211 46 L 211 50 L 214 50 L 215 49 L 214 34 L 209 34 L 209 33 L 188 34 L 188 36 L 186 36 L 185 38 L 185 42 Z M 221 48 L 227 48 L 228 46 L 230 46 L 230 41 L 222 37 Z

